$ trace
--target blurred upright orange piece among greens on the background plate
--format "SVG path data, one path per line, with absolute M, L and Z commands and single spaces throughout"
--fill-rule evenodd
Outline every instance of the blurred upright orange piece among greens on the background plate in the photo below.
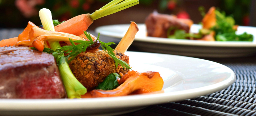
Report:
M 203 29 L 210 29 L 216 25 L 215 7 L 211 7 L 202 19 Z

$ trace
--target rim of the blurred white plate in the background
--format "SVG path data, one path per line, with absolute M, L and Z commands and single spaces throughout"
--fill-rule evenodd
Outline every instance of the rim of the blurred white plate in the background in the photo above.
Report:
M 145 24 L 137 24 L 138 27 L 145 26 Z M 193 24 L 198 25 L 198 24 Z M 129 27 L 130 24 L 116 24 L 116 25 L 105 25 L 100 26 L 95 29 L 95 32 L 100 32 L 101 35 L 115 37 L 121 39 L 123 37 L 122 34 L 114 34 L 113 32 L 104 32 L 101 29 L 107 28 L 109 26 L 127 26 Z M 255 28 L 256 27 L 249 27 L 249 26 L 238 26 L 243 28 Z M 128 28 L 127 28 L 128 29 Z M 145 33 L 146 34 L 146 33 Z M 256 47 L 255 42 L 248 42 L 248 41 L 201 41 L 201 40 L 183 40 L 183 39 L 168 39 L 168 38 L 161 38 L 161 37 L 137 37 L 135 36 L 134 41 L 142 41 L 142 42 L 150 42 L 150 43 L 161 43 L 161 44 L 175 44 L 175 45 L 189 45 L 189 46 L 210 46 L 210 47 Z

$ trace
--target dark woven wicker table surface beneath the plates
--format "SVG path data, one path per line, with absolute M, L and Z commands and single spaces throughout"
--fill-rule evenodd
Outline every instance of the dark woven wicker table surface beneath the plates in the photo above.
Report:
M 21 32 L 22 29 L 0 29 L 0 40 L 16 37 Z M 90 32 L 96 35 L 94 31 Z M 120 41 L 106 36 L 100 38 L 104 42 Z M 137 51 L 133 46 L 128 50 Z M 218 62 L 232 69 L 236 74 L 235 83 L 205 96 L 151 105 L 120 116 L 256 116 L 256 56 L 202 59 Z

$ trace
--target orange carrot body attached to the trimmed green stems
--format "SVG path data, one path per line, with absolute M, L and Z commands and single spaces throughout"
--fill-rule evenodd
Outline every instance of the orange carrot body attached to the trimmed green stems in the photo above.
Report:
M 83 31 L 86 31 L 92 23 L 93 20 L 90 18 L 90 14 L 82 14 L 55 26 L 54 29 L 58 32 L 79 36 L 83 34 Z

